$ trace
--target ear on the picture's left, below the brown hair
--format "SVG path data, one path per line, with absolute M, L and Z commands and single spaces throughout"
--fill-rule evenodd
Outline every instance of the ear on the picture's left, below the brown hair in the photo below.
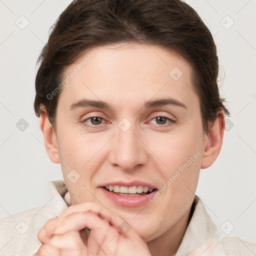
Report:
M 43 134 L 45 149 L 50 160 L 54 163 L 60 163 L 57 138 L 52 125 L 49 122 L 46 111 L 40 114 L 40 129 Z

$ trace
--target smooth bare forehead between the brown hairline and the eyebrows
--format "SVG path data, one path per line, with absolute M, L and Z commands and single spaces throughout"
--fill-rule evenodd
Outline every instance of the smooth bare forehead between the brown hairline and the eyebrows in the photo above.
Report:
M 184 102 L 194 94 L 191 71 L 179 54 L 159 45 L 92 47 L 66 68 L 63 78 L 69 80 L 60 98 L 70 102 L 85 96 L 124 105 L 168 94 Z

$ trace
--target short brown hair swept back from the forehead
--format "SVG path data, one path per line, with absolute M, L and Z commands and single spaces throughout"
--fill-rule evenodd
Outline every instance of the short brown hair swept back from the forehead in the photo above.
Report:
M 57 99 L 49 98 L 65 68 L 91 47 L 136 42 L 160 45 L 183 56 L 192 66 L 203 130 L 223 105 L 217 85 L 218 57 L 213 37 L 197 12 L 180 0 L 74 0 L 51 26 L 37 63 L 34 110 L 47 111 L 54 127 Z

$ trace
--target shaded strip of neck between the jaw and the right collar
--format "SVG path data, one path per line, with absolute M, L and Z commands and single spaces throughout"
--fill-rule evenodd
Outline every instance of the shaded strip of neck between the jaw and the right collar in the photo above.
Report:
M 190 208 L 165 233 L 147 243 L 152 256 L 174 256 L 189 222 Z

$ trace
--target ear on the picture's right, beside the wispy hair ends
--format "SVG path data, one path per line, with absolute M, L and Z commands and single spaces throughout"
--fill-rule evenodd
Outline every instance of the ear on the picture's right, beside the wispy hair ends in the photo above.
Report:
M 216 119 L 208 127 L 201 157 L 202 169 L 209 167 L 216 160 L 220 152 L 225 128 L 224 116 L 224 111 L 221 109 L 218 111 Z

